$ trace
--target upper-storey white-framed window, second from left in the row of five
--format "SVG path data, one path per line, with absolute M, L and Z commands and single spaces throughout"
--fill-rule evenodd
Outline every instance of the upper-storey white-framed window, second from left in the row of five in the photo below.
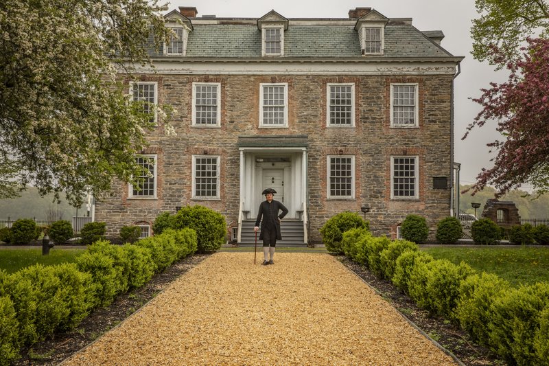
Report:
M 192 123 L 197 127 L 221 126 L 221 84 L 194 82 Z

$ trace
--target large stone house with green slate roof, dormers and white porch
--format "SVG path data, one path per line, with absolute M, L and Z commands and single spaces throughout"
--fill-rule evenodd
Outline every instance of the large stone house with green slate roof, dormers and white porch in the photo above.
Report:
M 253 242 L 266 187 L 290 210 L 290 244 L 320 242 L 342 211 L 367 211 L 371 230 L 393 238 L 408 214 L 432 228 L 450 215 L 463 57 L 441 47 L 443 32 L 371 8 L 337 19 L 197 15 L 167 14 L 176 36 L 151 54 L 156 70 L 127 80 L 135 100 L 176 109 L 175 134 L 161 123 L 148 134 L 141 190 L 120 183 L 97 201 L 109 236 L 123 225 L 148 236 L 161 212 L 203 205 L 226 217 L 229 240 Z

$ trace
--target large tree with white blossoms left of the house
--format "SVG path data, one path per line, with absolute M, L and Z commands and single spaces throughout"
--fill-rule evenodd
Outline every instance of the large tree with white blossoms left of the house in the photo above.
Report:
M 135 155 L 151 127 L 117 80 L 149 62 L 170 35 L 158 0 L 2 0 L 0 198 L 110 190 L 141 175 Z

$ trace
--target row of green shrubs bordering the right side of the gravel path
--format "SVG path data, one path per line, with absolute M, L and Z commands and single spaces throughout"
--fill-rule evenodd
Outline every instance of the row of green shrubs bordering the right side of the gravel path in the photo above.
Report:
M 344 253 L 389 279 L 419 306 L 439 314 L 490 347 L 510 365 L 549 365 L 549 283 L 511 288 L 465 263 L 434 260 L 407 240 L 342 234 Z

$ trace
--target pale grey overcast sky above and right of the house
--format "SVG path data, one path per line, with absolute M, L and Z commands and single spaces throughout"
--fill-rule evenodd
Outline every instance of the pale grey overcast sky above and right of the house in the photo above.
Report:
M 350 9 L 369 7 L 388 18 L 412 18 L 412 25 L 421 31 L 442 30 L 442 47 L 454 56 L 465 56 L 454 84 L 454 159 L 461 163 L 460 183 L 474 183 L 481 168 L 491 167 L 490 159 L 495 155 L 489 154 L 486 144 L 499 135 L 495 123 L 475 128 L 465 141 L 461 140 L 465 128 L 480 111 L 470 98 L 478 98 L 480 89 L 489 87 L 489 82 L 506 80 L 505 71 L 496 73 L 486 62 L 471 56 L 471 19 L 478 18 L 474 0 L 172 0 L 169 6 L 170 10 L 194 6 L 198 16 L 213 14 L 220 18 L 259 18 L 270 10 L 286 18 L 346 18 Z

